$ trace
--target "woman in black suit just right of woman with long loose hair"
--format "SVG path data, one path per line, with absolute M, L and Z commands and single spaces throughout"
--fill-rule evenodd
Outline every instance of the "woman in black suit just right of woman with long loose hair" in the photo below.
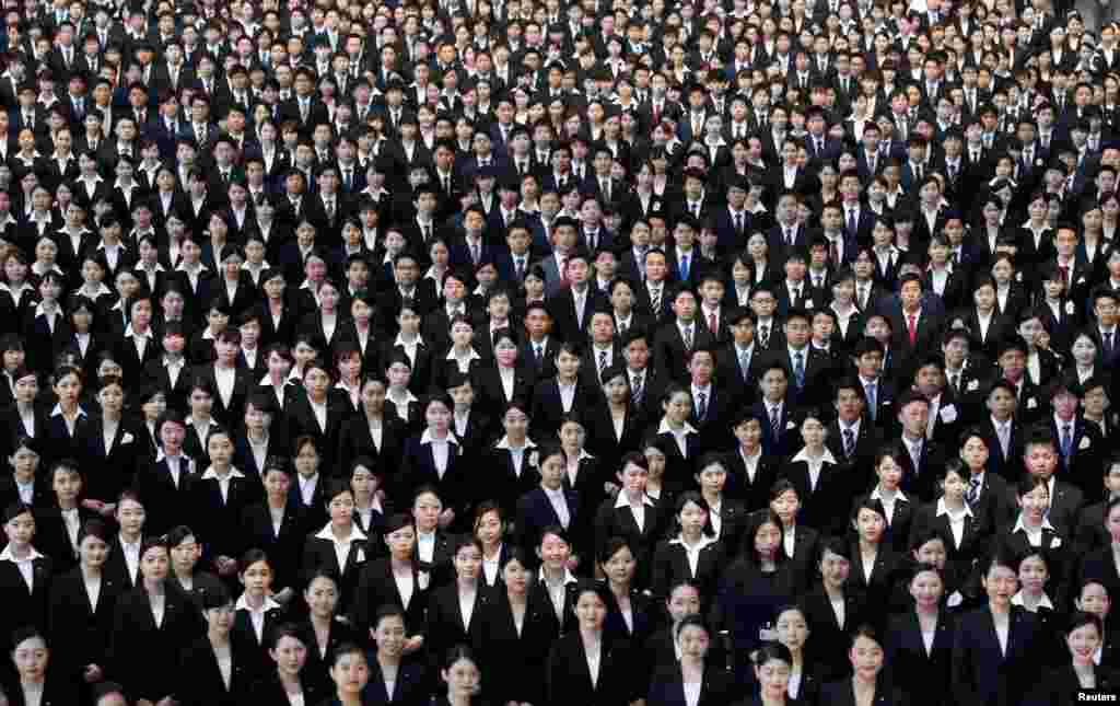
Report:
M 870 606 L 867 595 L 849 580 L 852 561 L 851 545 L 844 538 L 832 537 L 821 542 L 815 567 L 820 570 L 820 583 L 801 598 L 812 635 L 810 657 L 825 680 L 848 671 L 844 648 Z

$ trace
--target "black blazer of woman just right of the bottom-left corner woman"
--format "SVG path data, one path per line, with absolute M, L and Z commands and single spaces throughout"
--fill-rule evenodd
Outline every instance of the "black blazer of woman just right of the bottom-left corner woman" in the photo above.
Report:
M 109 645 L 116 598 L 124 586 L 102 575 L 97 605 L 90 605 L 82 569 L 74 567 L 50 587 L 49 634 L 55 668 L 77 680 L 86 665 L 110 667 Z

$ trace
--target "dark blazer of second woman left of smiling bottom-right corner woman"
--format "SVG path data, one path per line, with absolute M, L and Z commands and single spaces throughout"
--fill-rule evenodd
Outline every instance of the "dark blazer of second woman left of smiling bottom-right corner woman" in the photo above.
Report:
M 952 703 L 953 616 L 942 610 L 933 649 L 925 649 L 917 613 L 893 615 L 887 629 L 886 660 L 894 682 L 907 694 L 913 706 L 946 706 Z

